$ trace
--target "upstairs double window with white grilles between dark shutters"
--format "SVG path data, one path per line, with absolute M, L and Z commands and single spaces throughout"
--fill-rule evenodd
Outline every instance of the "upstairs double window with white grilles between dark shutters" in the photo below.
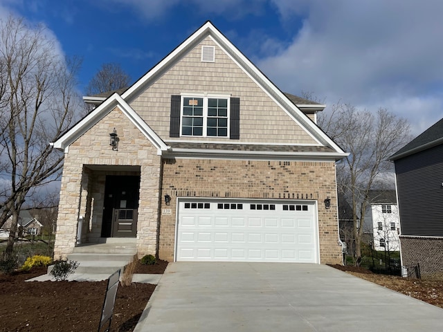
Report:
M 182 96 L 181 136 L 228 137 L 228 97 Z

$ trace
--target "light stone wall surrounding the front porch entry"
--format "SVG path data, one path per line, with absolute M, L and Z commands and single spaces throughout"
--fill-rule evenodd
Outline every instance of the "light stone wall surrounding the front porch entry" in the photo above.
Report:
M 114 127 L 120 140 L 118 151 L 109 147 L 109 133 Z M 106 165 L 107 168 L 97 172 L 91 165 Z M 121 173 L 124 169 L 119 169 L 119 166 L 140 169 L 138 254 L 156 253 L 161 157 L 157 156 L 157 149 L 150 140 L 116 108 L 73 142 L 69 153 L 65 154 L 54 257 L 66 257 L 72 252 L 80 216 L 84 217 L 84 225 L 87 226 L 83 239 L 98 239 L 105 175 L 124 174 Z

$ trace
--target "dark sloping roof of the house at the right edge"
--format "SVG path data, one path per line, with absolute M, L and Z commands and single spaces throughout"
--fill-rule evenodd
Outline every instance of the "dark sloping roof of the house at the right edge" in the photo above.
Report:
M 443 118 L 392 154 L 389 160 L 397 160 L 440 144 L 443 144 Z

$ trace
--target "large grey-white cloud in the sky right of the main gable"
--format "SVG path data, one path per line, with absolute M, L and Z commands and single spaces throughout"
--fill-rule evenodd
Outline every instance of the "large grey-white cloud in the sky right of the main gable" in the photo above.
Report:
M 257 65 L 284 91 L 387 107 L 415 129 L 442 118 L 442 1 L 275 0 L 305 15 L 290 46 Z

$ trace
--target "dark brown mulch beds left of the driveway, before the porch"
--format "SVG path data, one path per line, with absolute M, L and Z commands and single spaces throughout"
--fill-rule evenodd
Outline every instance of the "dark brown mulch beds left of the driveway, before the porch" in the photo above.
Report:
M 138 264 L 135 273 L 163 273 L 168 262 Z M 107 281 L 24 282 L 46 273 L 0 275 L 0 331 L 97 331 Z M 133 331 L 155 285 L 118 285 L 111 331 Z

